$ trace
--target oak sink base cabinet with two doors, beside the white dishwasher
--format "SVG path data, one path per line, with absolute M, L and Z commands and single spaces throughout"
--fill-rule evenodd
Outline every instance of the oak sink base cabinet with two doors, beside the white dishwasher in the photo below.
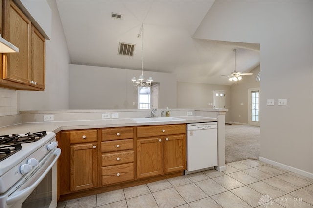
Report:
M 137 178 L 186 169 L 186 125 L 159 125 L 137 129 Z M 164 135 L 172 133 L 173 135 Z M 161 135 L 144 137 L 147 135 Z

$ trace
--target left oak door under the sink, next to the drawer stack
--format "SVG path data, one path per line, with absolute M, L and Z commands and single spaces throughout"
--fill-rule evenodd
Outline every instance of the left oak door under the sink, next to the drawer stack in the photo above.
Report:
M 163 173 L 162 138 L 137 140 L 137 178 L 146 178 Z

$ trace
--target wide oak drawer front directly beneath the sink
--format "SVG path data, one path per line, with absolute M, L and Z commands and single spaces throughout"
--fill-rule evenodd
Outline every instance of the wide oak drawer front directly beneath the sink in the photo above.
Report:
M 170 134 L 185 134 L 186 125 L 151 125 L 151 126 L 138 126 L 137 138 L 140 137 L 153 137 Z

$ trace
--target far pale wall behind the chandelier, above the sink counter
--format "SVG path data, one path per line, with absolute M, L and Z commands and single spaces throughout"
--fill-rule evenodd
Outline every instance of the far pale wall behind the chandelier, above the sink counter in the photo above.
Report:
M 97 66 L 69 66 L 70 109 L 137 109 L 137 88 L 131 79 L 141 71 Z M 177 108 L 176 75 L 143 72 L 159 84 L 159 108 Z M 135 102 L 135 105 L 133 105 Z

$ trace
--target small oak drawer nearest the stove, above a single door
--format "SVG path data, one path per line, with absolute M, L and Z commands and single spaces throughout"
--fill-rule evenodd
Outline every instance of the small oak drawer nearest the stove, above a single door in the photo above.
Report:
M 70 143 L 96 142 L 98 141 L 97 135 L 97 129 L 70 131 L 69 141 Z

